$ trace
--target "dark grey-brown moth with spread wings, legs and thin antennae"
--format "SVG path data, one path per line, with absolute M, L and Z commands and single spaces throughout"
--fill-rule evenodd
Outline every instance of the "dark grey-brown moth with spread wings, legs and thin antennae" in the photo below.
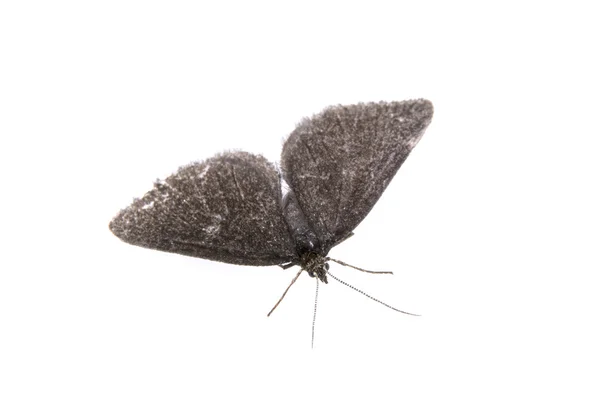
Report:
M 280 169 L 241 151 L 191 163 L 121 210 L 110 230 L 127 243 L 186 256 L 300 266 L 268 315 L 303 271 L 317 278 L 317 294 L 319 281 L 339 280 L 330 261 L 391 273 L 353 267 L 328 253 L 353 235 L 432 116 L 423 99 L 328 107 L 297 125 L 283 145 Z

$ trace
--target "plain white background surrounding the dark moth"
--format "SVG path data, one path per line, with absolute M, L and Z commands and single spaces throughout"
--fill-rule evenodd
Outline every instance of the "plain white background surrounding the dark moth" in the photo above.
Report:
M 0 398 L 597 399 L 595 2 L 5 1 Z M 124 244 L 180 165 L 330 104 L 433 123 L 332 271 Z

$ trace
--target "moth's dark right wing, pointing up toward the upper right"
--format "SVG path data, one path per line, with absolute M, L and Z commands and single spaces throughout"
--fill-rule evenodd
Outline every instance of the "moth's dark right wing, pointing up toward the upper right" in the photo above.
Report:
M 428 100 L 334 106 L 283 146 L 283 176 L 325 252 L 375 205 L 433 116 Z

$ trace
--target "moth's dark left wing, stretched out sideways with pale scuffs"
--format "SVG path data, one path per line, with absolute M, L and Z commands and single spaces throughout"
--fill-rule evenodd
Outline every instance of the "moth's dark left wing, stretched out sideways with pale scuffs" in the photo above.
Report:
M 281 181 L 265 158 L 225 153 L 182 167 L 110 223 L 123 241 L 232 264 L 297 259 L 281 205 Z

